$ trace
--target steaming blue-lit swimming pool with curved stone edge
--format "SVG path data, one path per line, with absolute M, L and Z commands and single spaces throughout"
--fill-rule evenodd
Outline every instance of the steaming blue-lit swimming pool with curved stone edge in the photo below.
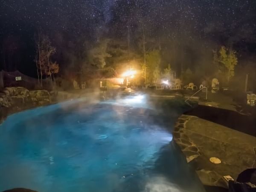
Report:
M 0 191 L 203 192 L 158 122 L 154 109 L 106 103 L 13 114 L 0 126 Z

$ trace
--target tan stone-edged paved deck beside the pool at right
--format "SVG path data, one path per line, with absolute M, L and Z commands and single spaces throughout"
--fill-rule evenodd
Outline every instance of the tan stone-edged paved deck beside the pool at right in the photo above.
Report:
M 256 168 L 256 137 L 251 135 L 196 116 L 181 115 L 173 138 L 204 185 L 227 188 L 223 176 L 236 180 L 245 169 Z M 221 163 L 211 163 L 210 157 L 218 157 Z

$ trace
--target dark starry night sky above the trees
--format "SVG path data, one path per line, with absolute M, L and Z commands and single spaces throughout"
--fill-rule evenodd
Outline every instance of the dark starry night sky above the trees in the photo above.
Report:
M 81 38 L 89 42 L 126 38 L 127 29 L 132 36 L 141 22 L 148 37 L 170 44 L 186 39 L 206 48 L 215 42 L 247 54 L 256 51 L 254 0 L 3 0 L 1 52 L 3 47 L 20 49 L 16 57 L 21 60 L 14 65 L 24 71 L 33 61 L 33 37 L 38 30 L 50 36 L 61 60 L 69 44 L 79 44 Z M 0 62 L 3 68 L 3 58 Z

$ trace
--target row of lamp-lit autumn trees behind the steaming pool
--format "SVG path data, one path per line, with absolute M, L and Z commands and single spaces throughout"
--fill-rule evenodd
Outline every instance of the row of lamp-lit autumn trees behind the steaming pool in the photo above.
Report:
M 129 37 L 129 36 L 128 36 Z M 38 76 L 38 84 L 42 87 L 42 79 L 48 77 L 55 84 L 56 74 L 60 70 L 60 64 L 54 61 L 57 53 L 56 47 L 50 41 L 49 36 L 38 32 L 34 35 L 35 41 L 35 67 Z M 86 44 L 86 43 L 84 43 Z M 79 47 L 73 64 L 64 66 L 62 73 L 73 74 L 69 79 L 77 81 L 92 81 L 93 79 L 116 77 L 127 68 L 135 68 L 139 71 L 136 84 L 160 84 L 163 79 L 174 81 L 179 78 L 183 84 L 191 81 L 203 81 L 210 78 L 220 78 L 227 84 L 235 75 L 235 66 L 238 63 L 237 53 L 231 48 L 221 46 L 212 51 L 212 58 L 208 60 L 211 72 L 207 77 L 204 68 L 192 72 L 189 66 L 177 71 L 177 64 L 163 61 L 166 50 L 163 50 L 157 39 L 146 37 L 144 28 L 141 28 L 137 37 L 136 48 L 131 48 L 129 39 L 120 41 L 113 38 L 102 38 L 88 47 Z M 79 54 L 79 56 L 78 56 Z M 168 52 L 168 54 L 170 54 Z M 183 66 L 182 66 L 183 67 Z M 70 76 L 67 76 L 68 78 Z M 200 82 L 201 83 L 201 82 Z

